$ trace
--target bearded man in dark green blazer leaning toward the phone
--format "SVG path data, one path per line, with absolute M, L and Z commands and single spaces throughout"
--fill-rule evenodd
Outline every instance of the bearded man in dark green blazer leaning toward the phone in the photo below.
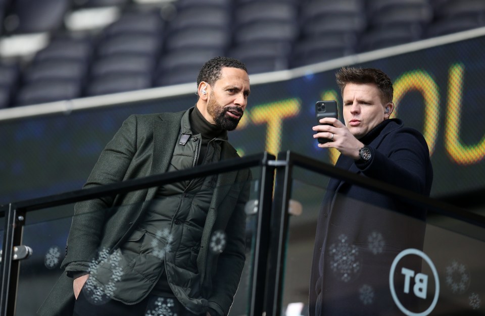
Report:
M 130 116 L 83 188 L 238 157 L 227 131 L 247 106 L 246 66 L 213 58 L 197 84 L 193 108 Z M 66 273 L 38 313 L 226 315 L 245 262 L 250 177 L 240 170 L 77 203 Z

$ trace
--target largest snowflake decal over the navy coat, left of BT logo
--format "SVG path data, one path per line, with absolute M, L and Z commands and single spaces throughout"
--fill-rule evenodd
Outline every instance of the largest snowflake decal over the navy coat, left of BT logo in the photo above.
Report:
M 330 268 L 344 282 L 349 282 L 360 270 L 359 250 L 347 243 L 347 239 L 344 234 L 338 236 L 339 242 L 328 250 Z

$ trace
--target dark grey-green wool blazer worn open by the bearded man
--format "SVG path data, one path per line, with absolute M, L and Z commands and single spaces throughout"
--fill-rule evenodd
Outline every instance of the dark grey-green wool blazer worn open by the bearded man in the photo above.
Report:
M 166 172 L 180 137 L 184 112 L 130 116 L 102 151 L 83 188 Z M 238 157 L 236 150 L 224 142 L 221 160 L 233 157 Z M 210 307 L 227 314 L 232 304 L 245 262 L 244 204 L 249 197 L 250 179 L 249 170 L 224 173 L 217 178 L 197 258 L 203 298 L 189 302 L 198 312 Z M 157 187 L 153 187 L 77 203 L 61 269 L 86 270 L 99 250 L 114 249 L 124 242 L 136 226 L 131 224 L 137 222 L 143 206 L 148 205 L 144 202 L 153 199 L 156 191 Z M 220 254 L 207 251 L 210 236 L 216 230 L 227 234 L 225 250 Z M 188 286 L 192 284 L 189 282 Z M 184 288 L 174 292 L 178 290 L 183 292 Z M 73 305 L 72 278 L 63 273 L 37 313 L 71 315 Z

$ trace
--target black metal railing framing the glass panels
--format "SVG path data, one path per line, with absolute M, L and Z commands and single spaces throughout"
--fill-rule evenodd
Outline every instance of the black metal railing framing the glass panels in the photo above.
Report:
M 399 199 L 405 199 L 407 203 L 427 208 L 428 212 L 485 228 L 484 217 L 468 212 L 465 209 L 451 206 L 437 199 L 425 197 L 374 179 L 364 179 L 362 176 L 335 168 L 294 152 L 281 152 L 278 154 L 278 159 L 275 159 L 273 155 L 268 153 L 249 155 L 240 159 L 221 161 L 189 170 L 159 174 L 102 187 L 76 190 L 3 205 L 0 209 L 0 216 L 5 218 L 0 316 L 11 316 L 15 314 L 20 262 L 19 258 L 15 257 L 14 252 L 15 249 L 21 246 L 23 226 L 30 212 L 45 207 L 55 207 L 102 197 L 112 193 L 124 193 L 160 186 L 175 181 L 183 181 L 252 167 L 260 167 L 261 174 L 259 175 L 258 221 L 254 245 L 255 258 L 252 267 L 251 295 L 248 302 L 248 313 L 250 315 L 260 316 L 265 313 L 267 316 L 279 316 L 282 314 L 281 298 L 285 260 L 284 246 L 288 234 L 288 221 L 290 216 L 288 214 L 288 205 L 292 191 L 294 167 L 300 167 L 321 175 L 342 179 L 370 190 Z

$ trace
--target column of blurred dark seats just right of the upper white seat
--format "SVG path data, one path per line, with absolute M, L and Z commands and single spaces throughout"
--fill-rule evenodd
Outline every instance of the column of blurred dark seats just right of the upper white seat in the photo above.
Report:
M 161 54 L 164 22 L 155 11 L 129 12 L 102 33 L 86 95 L 149 88 Z

